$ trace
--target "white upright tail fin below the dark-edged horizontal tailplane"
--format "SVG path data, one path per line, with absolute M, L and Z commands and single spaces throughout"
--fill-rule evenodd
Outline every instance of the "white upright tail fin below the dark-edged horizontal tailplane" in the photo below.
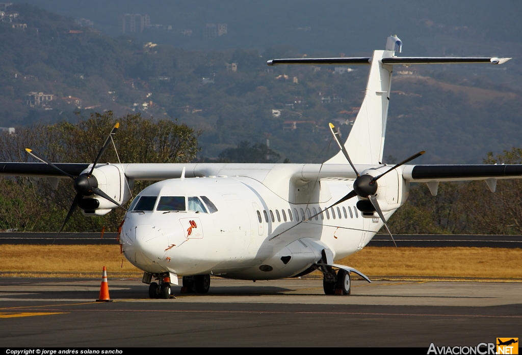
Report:
M 345 143 L 354 164 L 378 164 L 382 161 L 392 66 L 383 64 L 381 59 L 394 54 L 393 50 L 373 52 L 364 100 Z M 326 163 L 343 164 L 346 159 L 339 152 Z

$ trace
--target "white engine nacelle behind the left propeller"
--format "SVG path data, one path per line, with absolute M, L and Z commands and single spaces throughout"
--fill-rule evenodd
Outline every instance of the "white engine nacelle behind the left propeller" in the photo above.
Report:
M 90 168 L 82 173 L 88 173 Z M 92 175 L 98 181 L 98 188 L 112 197 L 120 205 L 125 204 L 131 197 L 130 187 L 120 164 L 98 164 Z M 79 207 L 84 215 L 104 215 L 118 207 L 113 202 L 97 195 L 85 196 Z

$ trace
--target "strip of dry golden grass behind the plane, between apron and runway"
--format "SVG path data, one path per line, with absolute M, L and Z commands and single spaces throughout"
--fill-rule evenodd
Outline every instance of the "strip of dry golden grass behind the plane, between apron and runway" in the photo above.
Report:
M 337 263 L 369 276 L 522 279 L 522 249 L 366 247 Z M 122 267 L 123 265 L 123 267 Z M 140 275 L 117 245 L 0 245 L 0 272 L 13 276 Z

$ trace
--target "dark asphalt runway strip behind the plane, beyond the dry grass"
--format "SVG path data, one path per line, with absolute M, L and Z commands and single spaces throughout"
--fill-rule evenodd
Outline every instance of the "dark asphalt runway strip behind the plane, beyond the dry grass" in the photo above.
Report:
M 56 245 L 102 245 L 118 244 L 117 233 L 0 233 L 0 244 L 51 244 Z M 55 240 L 56 238 L 56 240 Z M 396 234 L 398 247 L 489 247 L 522 248 L 520 235 L 436 235 L 436 234 Z M 369 246 L 395 247 L 392 238 L 377 234 Z

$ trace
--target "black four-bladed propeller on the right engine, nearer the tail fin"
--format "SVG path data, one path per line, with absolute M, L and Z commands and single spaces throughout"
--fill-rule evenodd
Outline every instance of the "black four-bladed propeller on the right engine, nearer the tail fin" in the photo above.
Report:
M 387 173 L 389 173 L 392 170 L 397 169 L 401 165 L 406 164 L 407 162 L 420 157 L 421 155 L 426 153 L 426 151 L 425 150 L 419 151 L 419 153 L 412 155 L 408 159 L 402 160 L 400 163 L 396 164 L 392 169 L 389 169 L 389 170 L 385 171 L 384 173 L 377 175 L 375 177 L 372 175 L 369 175 L 369 174 L 359 175 L 357 169 L 355 169 L 350 157 L 348 156 L 348 152 L 346 151 L 345 146 L 342 144 L 342 142 L 340 140 L 339 131 L 331 123 L 330 123 L 330 130 L 334 134 L 334 138 L 337 141 L 337 144 L 339 145 L 339 147 L 341 148 L 342 154 L 346 157 L 346 160 L 348 160 L 348 162 L 350 163 L 350 166 L 352 167 L 353 171 L 355 171 L 355 174 L 357 174 L 357 179 L 355 179 L 355 181 L 353 182 L 353 190 L 350 193 L 348 193 L 348 195 L 341 198 L 339 201 L 335 202 L 335 204 L 331 205 L 330 207 L 334 207 L 335 205 L 338 205 L 341 202 L 349 200 L 350 198 L 355 197 L 355 196 L 369 199 L 372 206 L 375 208 L 375 211 L 379 215 L 379 218 L 381 218 L 381 220 L 383 221 L 384 226 L 386 227 L 386 230 L 388 231 L 388 234 L 390 235 L 390 237 L 392 237 L 395 247 L 397 247 L 397 243 L 395 243 L 395 239 L 393 238 L 392 232 L 390 232 L 388 223 L 386 222 L 386 219 L 384 218 L 383 211 L 381 210 L 381 207 L 379 206 L 379 202 L 377 202 L 377 195 L 376 195 L 377 188 L 378 188 L 377 180 L 381 179 L 384 175 L 386 175 Z M 330 208 L 330 207 L 328 207 L 328 208 Z M 317 213 L 317 214 L 319 214 L 319 213 Z

